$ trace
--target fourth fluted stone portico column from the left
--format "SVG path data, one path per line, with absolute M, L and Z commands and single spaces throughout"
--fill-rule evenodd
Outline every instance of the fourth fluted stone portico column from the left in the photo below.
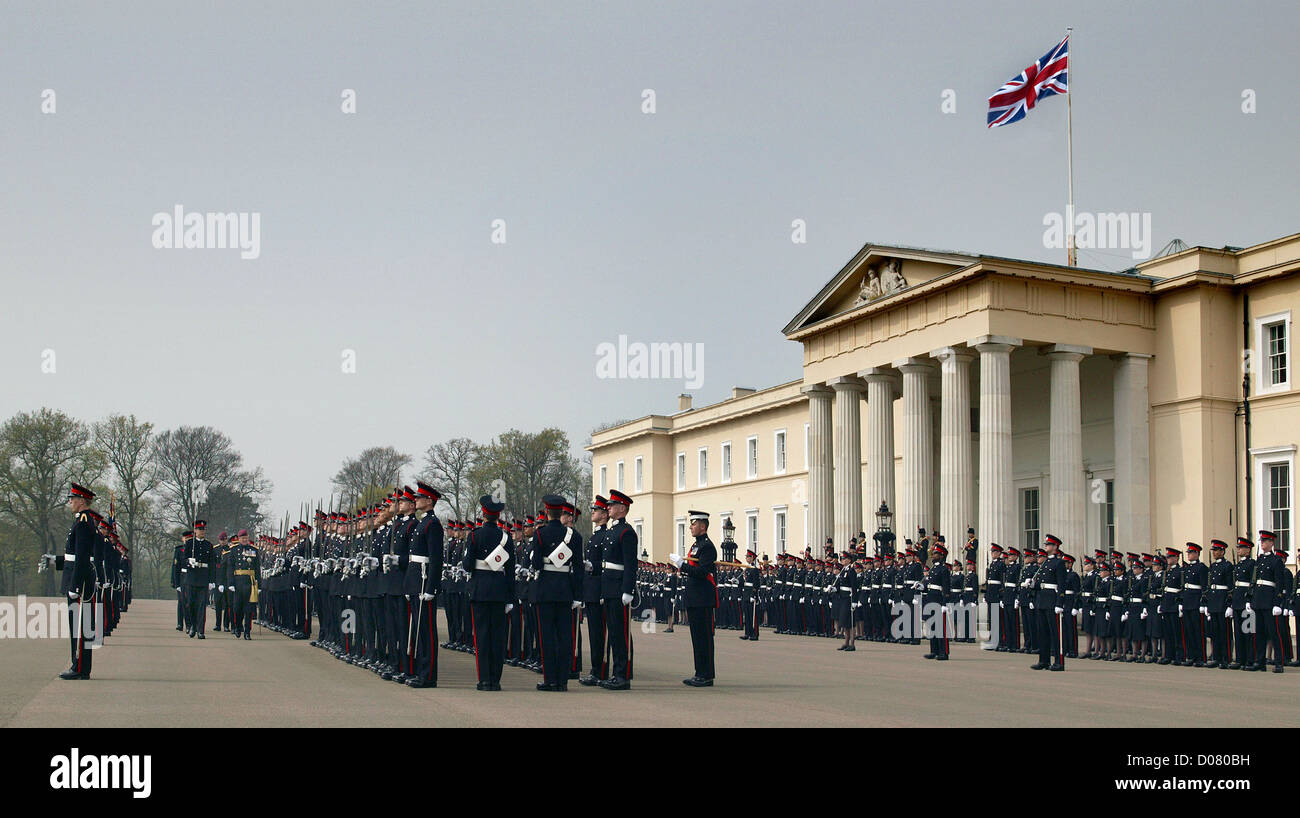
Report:
M 893 362 L 902 372 L 902 497 L 898 502 L 898 545 L 916 538 L 916 528 L 933 528 L 935 441 L 930 412 L 930 373 L 923 358 Z

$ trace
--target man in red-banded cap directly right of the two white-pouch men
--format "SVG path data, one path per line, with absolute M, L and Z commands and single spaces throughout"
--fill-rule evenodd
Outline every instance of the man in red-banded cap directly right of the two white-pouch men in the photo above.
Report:
M 637 532 L 628 525 L 632 498 L 610 489 L 608 511 L 614 524 L 607 529 L 601 568 L 601 597 L 604 600 L 606 650 L 612 654 L 610 678 L 601 683 L 607 691 L 632 687 L 632 592 L 636 589 Z

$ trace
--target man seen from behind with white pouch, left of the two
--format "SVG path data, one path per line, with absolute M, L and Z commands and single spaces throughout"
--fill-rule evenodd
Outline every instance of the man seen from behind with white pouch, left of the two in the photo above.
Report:
M 462 568 L 469 572 L 471 627 L 474 640 L 474 666 L 480 691 L 500 689 L 500 670 L 506 662 L 506 614 L 515 607 L 515 554 L 510 534 L 497 528 L 506 508 L 484 494 L 478 498 L 488 524 L 476 528 L 465 541 Z

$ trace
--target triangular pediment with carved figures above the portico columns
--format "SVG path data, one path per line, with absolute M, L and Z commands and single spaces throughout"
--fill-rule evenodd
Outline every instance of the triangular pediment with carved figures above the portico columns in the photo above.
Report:
M 824 319 L 905 293 L 976 260 L 976 256 L 963 254 L 866 244 L 781 332 L 789 336 Z

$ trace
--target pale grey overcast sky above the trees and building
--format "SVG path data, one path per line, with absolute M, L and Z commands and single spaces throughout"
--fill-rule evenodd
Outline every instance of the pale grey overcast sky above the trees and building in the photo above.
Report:
M 1208 5 L 8 3 L 0 416 L 213 425 L 274 516 L 368 446 L 675 411 L 620 336 L 701 345 L 696 406 L 794 380 L 864 243 L 1063 263 L 1065 98 L 985 100 L 1067 26 L 1078 211 L 1295 233 L 1300 7 Z M 256 257 L 157 247 L 177 205 Z

